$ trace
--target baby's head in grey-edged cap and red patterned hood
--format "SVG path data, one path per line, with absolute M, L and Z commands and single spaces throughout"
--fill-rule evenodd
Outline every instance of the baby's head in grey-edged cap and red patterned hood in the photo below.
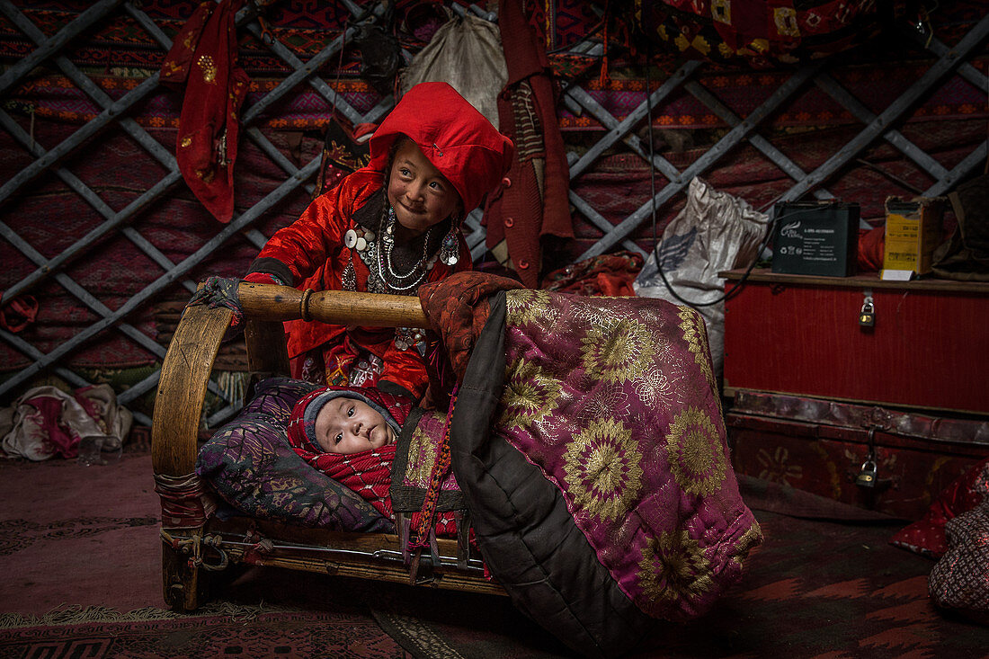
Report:
M 409 406 L 377 389 L 323 387 L 296 404 L 289 440 L 315 453 L 350 455 L 379 449 L 396 442 Z

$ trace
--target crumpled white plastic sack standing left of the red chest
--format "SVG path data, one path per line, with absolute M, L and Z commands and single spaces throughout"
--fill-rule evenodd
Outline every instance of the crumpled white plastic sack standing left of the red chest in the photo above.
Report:
M 704 317 L 715 378 L 720 381 L 725 353 L 725 303 L 718 300 L 725 280 L 718 272 L 748 267 L 759 256 L 768 216 L 745 200 L 719 192 L 700 178 L 690 181 L 683 210 L 663 231 L 659 253 L 663 272 L 676 295 L 698 306 Z M 683 304 L 663 282 L 651 254 L 632 284 L 635 294 Z M 712 304 L 714 303 L 714 304 Z

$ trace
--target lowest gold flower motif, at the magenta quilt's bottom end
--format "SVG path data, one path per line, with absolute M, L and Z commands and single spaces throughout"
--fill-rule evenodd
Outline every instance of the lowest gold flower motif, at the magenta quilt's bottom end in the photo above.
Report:
M 649 538 L 639 561 L 639 585 L 662 611 L 678 600 L 693 601 L 711 589 L 711 567 L 697 540 L 685 530 Z

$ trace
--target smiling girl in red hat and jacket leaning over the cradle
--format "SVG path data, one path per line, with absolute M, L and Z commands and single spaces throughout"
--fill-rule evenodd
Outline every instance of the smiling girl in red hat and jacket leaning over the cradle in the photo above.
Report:
M 410 89 L 370 141 L 371 160 L 273 235 L 247 281 L 414 295 L 469 270 L 466 213 L 500 184 L 513 145 L 453 87 Z M 293 376 L 375 386 L 419 400 L 428 378 L 418 329 L 286 324 Z

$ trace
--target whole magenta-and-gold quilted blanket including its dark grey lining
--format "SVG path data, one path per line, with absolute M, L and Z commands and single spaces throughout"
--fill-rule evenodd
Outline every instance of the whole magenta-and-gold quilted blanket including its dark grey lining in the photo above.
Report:
M 631 649 L 649 620 L 710 610 L 762 541 L 720 400 L 689 308 L 494 295 L 451 453 L 481 551 L 516 607 L 589 656 Z

